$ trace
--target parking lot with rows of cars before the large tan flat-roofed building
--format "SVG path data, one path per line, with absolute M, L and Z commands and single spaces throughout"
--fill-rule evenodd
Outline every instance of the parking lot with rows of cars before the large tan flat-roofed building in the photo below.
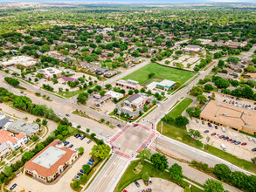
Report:
M 254 143 L 253 141 L 249 141 L 247 135 L 240 134 L 239 132 L 232 130 L 231 128 L 228 128 L 228 127 L 224 127 L 225 128 L 225 133 L 224 133 L 222 131 L 221 126 L 218 126 L 218 129 L 216 129 L 215 127 L 209 127 L 207 123 L 208 122 L 204 121 L 204 125 L 203 125 L 202 120 L 198 120 L 198 123 L 197 123 L 196 119 L 193 119 L 190 121 L 190 124 L 188 125 L 188 129 L 191 128 L 191 129 L 198 130 L 203 136 L 203 139 L 201 139 L 200 141 L 202 141 L 205 144 L 207 144 L 206 138 L 209 136 L 210 141 L 208 144 L 211 146 L 223 149 L 221 145 L 224 144 L 227 153 L 236 155 L 239 158 L 245 159 L 247 161 L 251 161 L 251 158 L 255 157 L 256 152 L 253 152 L 252 149 L 256 147 L 256 143 Z M 204 133 L 205 130 L 209 130 L 209 133 Z M 215 133 L 216 135 L 211 135 L 213 133 Z M 232 141 L 220 139 L 219 136 L 221 135 L 228 136 L 229 139 L 240 141 L 241 143 L 246 142 L 246 145 L 242 146 L 241 143 L 236 145 L 235 143 L 232 143 Z

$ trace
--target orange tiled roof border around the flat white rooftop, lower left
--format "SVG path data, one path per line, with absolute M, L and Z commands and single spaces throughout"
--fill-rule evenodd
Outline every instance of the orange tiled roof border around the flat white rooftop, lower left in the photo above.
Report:
M 70 158 L 72 157 L 73 154 L 75 154 L 76 152 L 66 148 L 66 147 L 60 147 L 61 150 L 66 151 L 66 154 L 64 154 L 62 157 L 59 158 L 58 161 L 56 161 L 51 168 L 45 168 L 41 165 L 39 165 L 38 163 L 33 162 L 34 159 L 36 159 L 38 157 L 38 155 L 42 154 L 48 147 L 52 146 L 55 147 L 57 142 L 59 140 L 55 140 L 52 141 L 52 143 L 50 143 L 47 147 L 45 147 L 42 151 L 40 151 L 37 155 L 35 155 L 30 161 L 27 161 L 24 164 L 24 168 L 30 171 L 36 171 L 38 173 L 38 175 L 44 176 L 44 177 L 48 177 L 48 176 L 52 176 L 54 175 L 58 169 L 59 166 L 64 165 L 66 163 L 66 161 L 69 161 Z

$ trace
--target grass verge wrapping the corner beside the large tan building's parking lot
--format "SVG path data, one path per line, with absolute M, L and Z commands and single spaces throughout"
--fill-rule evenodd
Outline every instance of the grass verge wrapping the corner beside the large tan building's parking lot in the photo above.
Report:
M 180 115 L 183 110 L 190 104 L 190 99 L 185 98 L 183 101 L 181 101 L 178 105 L 175 106 L 170 111 L 170 114 L 173 118 Z M 161 123 L 158 123 L 157 130 L 161 132 Z M 176 141 L 181 141 L 183 143 L 186 143 L 192 147 L 197 147 L 202 150 L 203 143 L 201 141 L 195 140 L 191 138 L 187 134 L 186 127 L 176 127 L 174 124 L 168 124 L 163 122 L 163 135 L 168 136 L 172 139 L 175 139 Z M 243 159 L 239 159 L 238 157 L 226 153 L 225 151 L 218 149 L 217 147 L 212 147 L 211 145 L 204 147 L 204 151 L 208 152 L 209 154 L 214 154 L 225 161 L 232 162 L 232 164 L 239 166 L 240 168 L 245 168 L 248 171 L 251 171 L 253 173 L 256 173 L 256 164 L 253 164 L 251 161 L 246 161 Z

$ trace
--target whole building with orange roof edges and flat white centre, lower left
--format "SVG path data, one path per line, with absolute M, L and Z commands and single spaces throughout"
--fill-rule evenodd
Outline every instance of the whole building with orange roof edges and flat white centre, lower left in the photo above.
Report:
M 64 147 L 62 141 L 55 140 L 24 164 L 24 174 L 42 182 L 52 182 L 77 158 L 78 152 Z

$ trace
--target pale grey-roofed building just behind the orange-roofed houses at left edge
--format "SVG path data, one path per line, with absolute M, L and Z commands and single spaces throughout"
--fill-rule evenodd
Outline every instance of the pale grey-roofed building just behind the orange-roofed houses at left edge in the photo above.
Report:
M 24 120 L 16 120 L 14 122 L 7 123 L 4 127 L 12 133 L 24 133 L 28 137 L 38 134 L 40 131 L 38 124 L 26 123 Z

